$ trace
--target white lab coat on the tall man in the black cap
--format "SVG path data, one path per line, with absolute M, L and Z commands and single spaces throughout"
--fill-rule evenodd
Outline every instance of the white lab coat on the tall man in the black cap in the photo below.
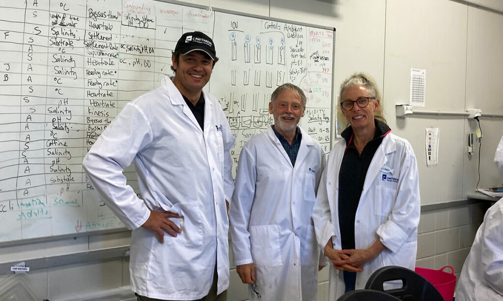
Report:
M 101 199 L 133 229 L 130 271 L 140 295 L 193 300 L 211 286 L 229 285 L 225 200 L 233 191 L 230 148 L 234 137 L 217 100 L 204 93 L 204 133 L 168 76 L 161 86 L 129 102 L 83 161 Z M 139 199 L 122 171 L 134 160 Z M 182 229 L 164 243 L 140 227 L 149 210 L 178 213 Z

